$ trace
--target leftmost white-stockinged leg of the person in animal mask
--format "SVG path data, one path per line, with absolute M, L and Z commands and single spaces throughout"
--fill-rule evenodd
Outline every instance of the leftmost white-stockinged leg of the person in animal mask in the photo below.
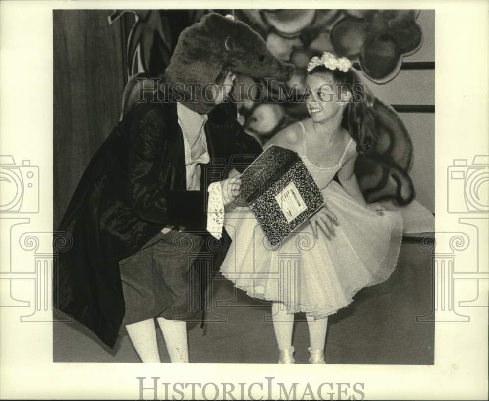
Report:
M 141 362 L 161 362 L 159 359 L 155 322 L 153 319 L 126 325 L 126 329 Z

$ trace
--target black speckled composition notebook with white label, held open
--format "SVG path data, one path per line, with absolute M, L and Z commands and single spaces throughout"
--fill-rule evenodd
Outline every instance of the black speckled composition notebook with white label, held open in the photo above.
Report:
M 272 246 L 324 204 L 323 195 L 300 156 L 276 145 L 267 148 L 244 170 L 236 201 L 249 206 Z

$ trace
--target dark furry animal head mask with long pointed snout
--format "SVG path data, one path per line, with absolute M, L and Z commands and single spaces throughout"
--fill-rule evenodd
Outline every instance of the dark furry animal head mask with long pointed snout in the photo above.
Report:
M 212 94 L 200 93 L 199 88 L 210 90 L 208 84 L 216 82 L 222 71 L 284 82 L 292 77 L 293 67 L 274 57 L 258 33 L 230 17 L 207 14 L 200 23 L 185 29 L 165 71 L 172 85 L 197 84 L 197 101 L 188 107 L 200 114 L 210 112 L 214 105 L 205 101 Z

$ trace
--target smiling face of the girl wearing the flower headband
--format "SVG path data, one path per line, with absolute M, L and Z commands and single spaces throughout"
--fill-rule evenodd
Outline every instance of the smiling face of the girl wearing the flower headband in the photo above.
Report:
M 338 86 L 325 74 L 311 74 L 306 78 L 307 97 L 306 105 L 309 115 L 314 122 L 325 121 L 343 113 L 348 103 L 339 97 Z M 345 96 L 342 96 L 345 98 Z

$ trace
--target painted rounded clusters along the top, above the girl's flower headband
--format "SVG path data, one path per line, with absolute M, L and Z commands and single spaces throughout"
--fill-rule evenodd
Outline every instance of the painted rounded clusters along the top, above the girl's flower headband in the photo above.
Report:
M 422 45 L 419 10 L 236 10 L 266 39 L 275 55 L 308 61 L 324 51 L 359 62 L 366 77 L 383 83 L 400 71 L 402 57 Z M 303 57 L 304 58 L 304 57 Z M 304 64 L 304 61 L 302 63 Z M 298 65 L 299 66 L 299 65 Z

